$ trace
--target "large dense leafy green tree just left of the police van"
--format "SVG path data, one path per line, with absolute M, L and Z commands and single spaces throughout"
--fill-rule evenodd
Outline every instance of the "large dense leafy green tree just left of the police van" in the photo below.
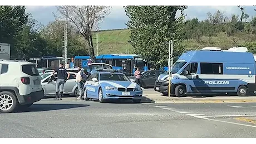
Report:
M 167 65 L 168 42 L 174 42 L 174 57 L 184 52 L 181 47 L 183 11 L 186 6 L 126 6 L 130 18 L 127 27 L 131 29 L 130 43 L 134 53 L 146 59 L 153 67 Z M 181 17 L 175 18 L 181 11 Z

